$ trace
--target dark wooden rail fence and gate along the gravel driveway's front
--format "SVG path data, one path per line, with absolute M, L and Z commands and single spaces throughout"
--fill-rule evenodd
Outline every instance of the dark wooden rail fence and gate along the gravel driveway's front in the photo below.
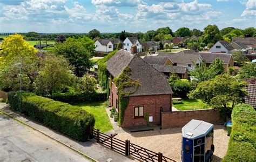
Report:
M 120 140 L 100 132 L 98 129 L 93 129 L 93 138 L 97 143 L 103 144 L 111 150 L 117 151 L 125 156 L 130 156 L 142 161 L 175 161 L 171 158 L 163 156 L 163 153 L 156 153 L 130 143 L 130 140 Z

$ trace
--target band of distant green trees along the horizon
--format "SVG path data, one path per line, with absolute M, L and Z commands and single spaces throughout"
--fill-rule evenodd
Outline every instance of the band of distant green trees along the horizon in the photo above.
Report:
M 2 33 L 2 35 L 9 35 L 12 33 Z M 204 28 L 204 31 L 198 29 L 188 29 L 185 27 L 179 28 L 175 32 L 172 31 L 168 26 L 165 28 L 159 28 L 157 30 L 149 30 L 145 33 L 143 32 L 117 32 L 117 33 L 100 33 L 97 29 L 89 31 L 89 33 L 37 33 L 37 32 L 28 32 L 28 33 L 19 33 L 24 36 L 26 40 L 48 40 L 55 41 L 59 35 L 63 35 L 65 38 L 73 37 L 79 38 L 87 36 L 91 39 L 95 38 L 119 38 L 124 40 L 126 37 L 137 37 L 141 42 L 145 41 L 161 41 L 161 40 L 172 40 L 173 37 L 191 37 L 196 36 L 201 38 L 199 42 L 205 43 L 215 43 L 216 40 L 227 40 L 231 42 L 233 37 L 256 37 L 256 29 L 246 28 L 244 30 L 227 27 L 219 30 L 217 25 L 207 25 Z M 212 35 L 212 36 L 211 36 Z M 215 38 L 212 38 L 215 35 Z

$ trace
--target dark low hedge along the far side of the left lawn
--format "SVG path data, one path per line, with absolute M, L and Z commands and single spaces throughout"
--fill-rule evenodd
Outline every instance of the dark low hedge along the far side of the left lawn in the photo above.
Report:
M 58 100 L 64 103 L 83 103 L 83 102 L 97 102 L 105 101 L 107 99 L 106 93 L 65 93 L 65 94 L 55 94 L 49 96 L 53 100 Z

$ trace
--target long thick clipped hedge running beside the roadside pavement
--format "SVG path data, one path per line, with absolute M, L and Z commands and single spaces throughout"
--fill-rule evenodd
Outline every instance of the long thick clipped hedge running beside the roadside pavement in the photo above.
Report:
M 23 92 L 9 92 L 8 99 L 12 110 L 24 113 L 52 129 L 79 141 L 89 137 L 90 127 L 95 125 L 91 113 L 67 103 Z

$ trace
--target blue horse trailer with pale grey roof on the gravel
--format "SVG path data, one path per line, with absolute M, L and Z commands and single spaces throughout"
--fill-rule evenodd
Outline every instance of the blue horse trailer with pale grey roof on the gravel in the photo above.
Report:
M 211 161 L 213 152 L 213 124 L 192 119 L 182 128 L 182 161 Z

